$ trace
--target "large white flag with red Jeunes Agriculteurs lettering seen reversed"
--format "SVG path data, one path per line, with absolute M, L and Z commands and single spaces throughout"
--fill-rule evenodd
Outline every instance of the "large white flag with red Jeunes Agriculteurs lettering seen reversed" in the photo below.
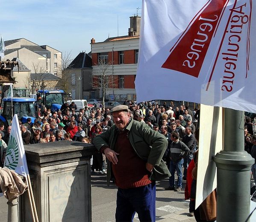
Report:
M 137 101 L 256 112 L 256 0 L 143 0 Z

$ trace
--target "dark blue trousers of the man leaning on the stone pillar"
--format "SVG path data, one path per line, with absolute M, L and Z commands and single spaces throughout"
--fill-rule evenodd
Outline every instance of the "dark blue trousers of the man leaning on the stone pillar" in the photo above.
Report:
M 135 212 L 139 220 L 156 221 L 156 183 L 129 189 L 118 188 L 115 220 L 133 221 Z

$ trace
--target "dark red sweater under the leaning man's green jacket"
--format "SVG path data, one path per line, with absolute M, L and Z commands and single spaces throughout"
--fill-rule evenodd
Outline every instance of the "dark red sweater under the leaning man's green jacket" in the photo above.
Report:
M 128 132 L 125 130 L 118 133 L 115 144 L 115 152 L 119 153 L 118 163 L 112 164 L 115 184 L 122 189 L 141 187 L 151 183 L 146 161 L 135 153 L 128 139 Z

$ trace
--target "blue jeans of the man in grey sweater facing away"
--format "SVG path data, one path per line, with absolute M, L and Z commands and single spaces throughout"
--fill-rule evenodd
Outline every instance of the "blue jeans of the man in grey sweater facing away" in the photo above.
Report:
M 174 163 L 171 160 L 170 163 L 170 173 L 171 173 L 171 177 L 169 178 L 169 184 L 170 187 L 175 187 L 175 170 L 177 170 L 177 176 L 178 176 L 178 180 L 177 180 L 177 187 L 182 187 L 182 164 L 183 164 L 184 160 L 181 159 L 179 160 L 177 163 Z

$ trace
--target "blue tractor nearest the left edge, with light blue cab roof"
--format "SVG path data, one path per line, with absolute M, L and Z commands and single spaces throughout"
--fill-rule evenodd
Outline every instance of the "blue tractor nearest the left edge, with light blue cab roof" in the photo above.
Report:
M 18 115 L 18 119 L 22 123 L 27 122 L 27 118 L 31 118 L 34 123 L 35 118 L 38 117 L 36 112 L 37 103 L 34 98 L 26 97 L 11 97 L 2 99 L 2 109 L 0 115 L 0 121 L 6 126 L 11 125 L 12 117 L 14 114 Z

